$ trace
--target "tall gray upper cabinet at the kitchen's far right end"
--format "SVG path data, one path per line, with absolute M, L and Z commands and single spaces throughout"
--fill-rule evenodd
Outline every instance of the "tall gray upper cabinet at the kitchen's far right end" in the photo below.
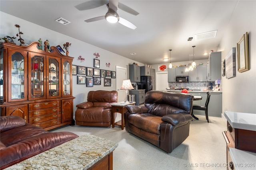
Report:
M 208 59 L 208 80 L 221 79 L 221 52 L 212 52 Z

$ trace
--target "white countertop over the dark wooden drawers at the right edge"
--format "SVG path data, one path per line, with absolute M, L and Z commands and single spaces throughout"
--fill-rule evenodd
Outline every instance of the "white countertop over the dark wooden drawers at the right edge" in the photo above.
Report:
M 256 114 L 224 111 L 228 123 L 236 129 L 256 131 Z

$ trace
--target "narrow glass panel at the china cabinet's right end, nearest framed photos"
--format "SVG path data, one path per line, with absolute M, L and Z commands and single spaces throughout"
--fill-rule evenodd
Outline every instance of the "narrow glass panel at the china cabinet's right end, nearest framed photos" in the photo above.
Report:
M 72 77 L 71 77 L 71 72 L 70 70 L 72 69 L 72 64 L 69 61 L 63 61 L 62 62 L 62 76 L 63 76 L 63 94 L 62 97 L 64 96 L 70 96 L 72 94 L 70 94 L 71 92 L 71 85 L 70 82 L 72 81 Z

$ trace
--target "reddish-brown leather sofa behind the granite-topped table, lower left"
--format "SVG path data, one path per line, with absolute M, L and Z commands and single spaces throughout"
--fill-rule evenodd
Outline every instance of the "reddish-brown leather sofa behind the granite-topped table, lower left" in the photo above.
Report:
M 0 117 L 0 169 L 78 137 L 70 132 L 51 133 L 18 116 Z

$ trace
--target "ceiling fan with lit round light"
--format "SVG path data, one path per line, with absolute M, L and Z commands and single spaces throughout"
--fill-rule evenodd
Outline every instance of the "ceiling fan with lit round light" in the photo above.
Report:
M 99 17 L 91 18 L 91 19 L 88 19 L 88 20 L 85 20 L 85 21 L 86 22 L 93 22 L 93 21 L 99 21 L 99 20 L 104 20 L 105 19 L 110 23 L 119 22 L 122 25 L 124 25 L 128 28 L 131 28 L 131 29 L 136 29 L 137 28 L 136 25 L 134 25 L 130 21 L 120 17 L 117 14 L 117 10 L 120 8 L 120 9 L 124 10 L 125 12 L 133 14 L 135 16 L 139 14 L 138 12 L 136 12 L 135 10 L 133 10 L 132 8 L 130 8 L 126 5 L 124 5 L 124 4 L 118 3 L 118 0 L 109 0 L 109 2 L 108 3 L 107 2 L 108 1 L 106 1 L 106 0 L 99 0 L 99 1 L 98 0 L 97 1 L 91 0 L 91 1 L 79 4 L 75 7 L 78 10 L 89 10 L 89 9 L 97 8 L 99 6 L 102 6 L 102 5 L 106 4 L 107 7 L 108 7 L 108 12 L 106 13 L 105 16 L 99 16 Z

